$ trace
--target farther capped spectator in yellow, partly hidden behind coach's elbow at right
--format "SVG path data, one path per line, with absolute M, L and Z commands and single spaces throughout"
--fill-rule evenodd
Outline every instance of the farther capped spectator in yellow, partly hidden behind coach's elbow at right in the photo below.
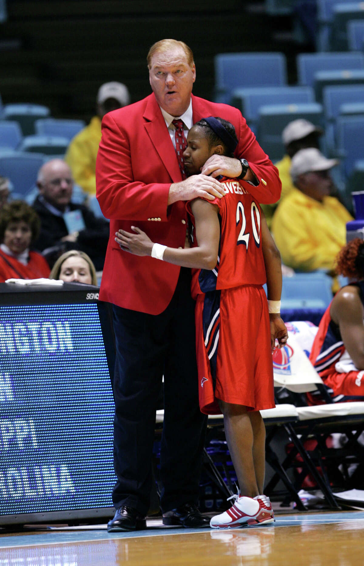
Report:
M 287 195 L 293 190 L 294 185 L 290 174 L 291 159 L 300 150 L 307 147 L 315 147 L 319 149 L 319 138 L 323 134 L 323 130 L 308 120 L 304 118 L 298 118 L 287 124 L 287 126 L 282 131 L 282 141 L 286 149 L 286 154 L 283 156 L 281 161 L 278 161 L 276 165 L 278 173 L 280 174 L 280 179 L 282 181 L 282 192 L 281 198 L 274 204 L 263 204 L 263 208 L 266 223 L 268 228 L 271 228 L 272 217 L 274 211 L 279 203 L 286 198 Z

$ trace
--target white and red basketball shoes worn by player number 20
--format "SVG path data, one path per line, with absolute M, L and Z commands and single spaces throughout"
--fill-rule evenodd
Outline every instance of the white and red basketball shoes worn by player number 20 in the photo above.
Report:
M 236 496 L 235 503 L 210 521 L 211 529 L 237 529 L 244 525 L 265 525 L 274 522 L 273 509 L 270 501 L 261 496 L 256 499 Z M 268 505 L 269 503 L 269 505 Z

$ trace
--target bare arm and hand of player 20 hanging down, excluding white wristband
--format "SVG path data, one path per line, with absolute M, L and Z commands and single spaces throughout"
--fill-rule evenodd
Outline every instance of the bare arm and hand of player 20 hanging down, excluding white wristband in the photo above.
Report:
M 266 273 L 266 290 L 268 301 L 280 301 L 282 293 L 282 265 L 281 254 L 274 243 L 270 234 L 265 216 L 261 211 L 261 242 L 263 248 L 264 265 Z M 288 333 L 280 312 L 270 312 L 270 342 L 272 349 L 278 340 L 278 347 L 281 348 L 287 342 Z

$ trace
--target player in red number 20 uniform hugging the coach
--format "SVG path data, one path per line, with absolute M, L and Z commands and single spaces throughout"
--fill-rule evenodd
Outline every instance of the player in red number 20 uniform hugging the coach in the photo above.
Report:
M 188 175 L 198 174 L 211 155 L 231 156 L 237 143 L 230 122 L 213 117 L 197 122 L 183 154 Z M 259 411 L 274 407 L 272 348 L 276 338 L 285 344 L 287 331 L 280 318 L 280 255 L 259 203 L 238 179 L 220 182 L 225 198 L 187 203 L 192 247 L 161 246 L 136 227 L 135 234 L 119 230 L 115 240 L 133 254 L 195 268 L 200 409 L 223 413 L 240 487 L 234 505 L 213 517 L 210 526 L 235 528 L 274 521 L 269 498 L 262 495 L 265 427 Z

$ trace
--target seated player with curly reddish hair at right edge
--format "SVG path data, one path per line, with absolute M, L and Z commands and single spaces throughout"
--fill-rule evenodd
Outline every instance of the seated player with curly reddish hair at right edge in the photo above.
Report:
M 337 256 L 338 274 L 352 282 L 332 299 L 321 319 L 310 360 L 333 401 L 364 401 L 364 242 L 355 238 Z M 319 395 L 310 394 L 314 404 Z

